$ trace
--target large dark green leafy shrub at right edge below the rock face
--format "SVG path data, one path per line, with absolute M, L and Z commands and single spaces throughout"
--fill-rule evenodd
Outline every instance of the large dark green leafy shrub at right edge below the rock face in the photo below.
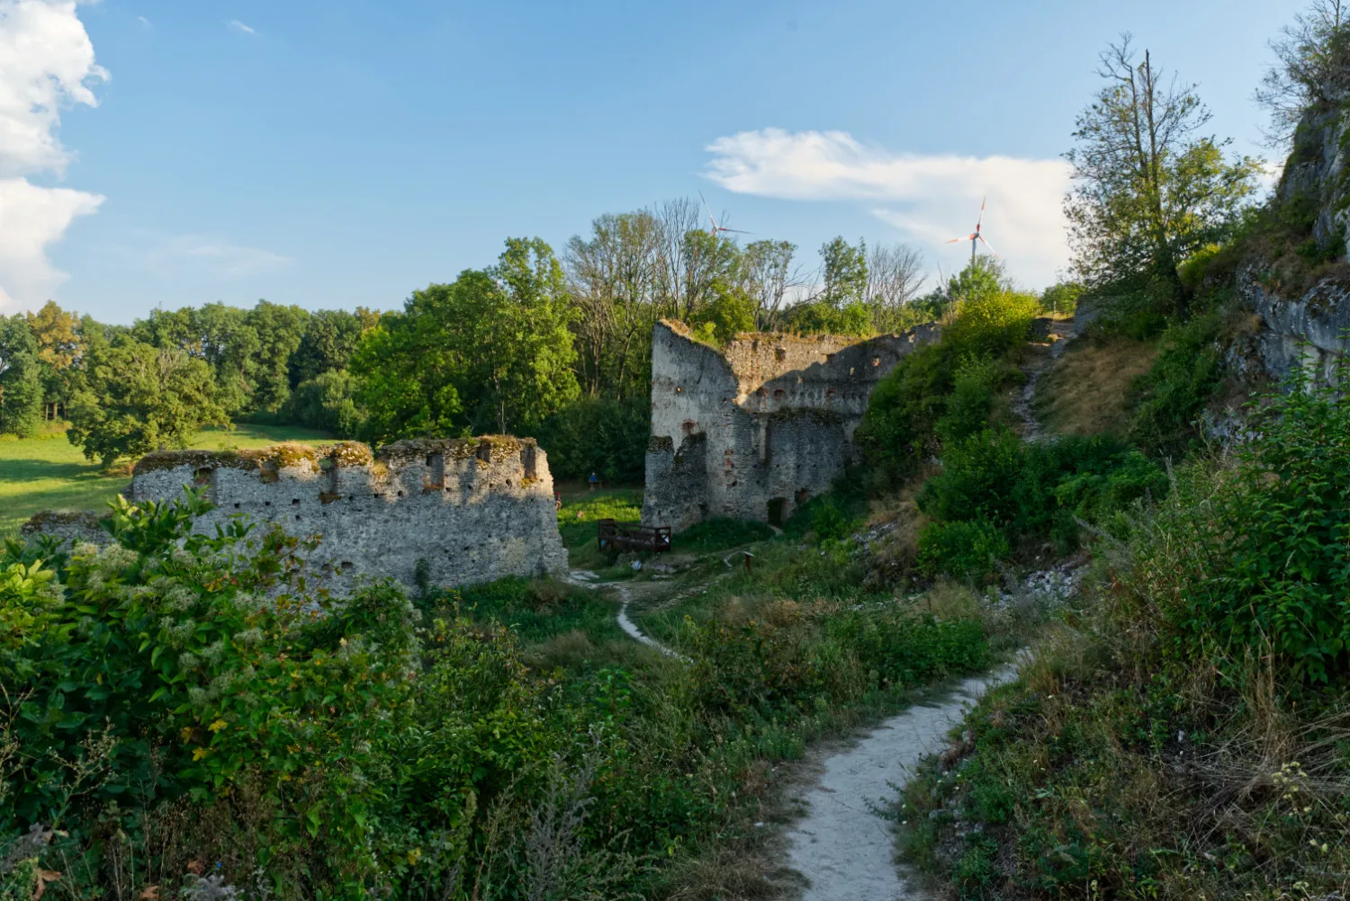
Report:
M 1269 642 L 1293 680 L 1324 682 L 1350 670 L 1350 405 L 1301 375 L 1287 387 L 1253 409 L 1257 438 L 1233 469 L 1187 479 L 1142 542 L 1183 552 L 1164 610 L 1174 653 L 1241 657 Z

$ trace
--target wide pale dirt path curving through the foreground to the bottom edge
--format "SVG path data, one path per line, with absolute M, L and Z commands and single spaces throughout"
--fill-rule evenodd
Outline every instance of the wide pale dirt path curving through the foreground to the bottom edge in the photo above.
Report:
M 807 813 L 787 835 L 788 863 L 810 882 L 803 901 L 902 901 L 927 897 L 907 885 L 894 861 L 895 835 L 873 812 L 895 796 L 926 754 L 946 746 L 948 731 L 990 687 L 1010 681 L 1004 668 L 961 682 L 950 695 L 917 704 L 878 726 L 855 747 L 832 754 L 803 796 Z

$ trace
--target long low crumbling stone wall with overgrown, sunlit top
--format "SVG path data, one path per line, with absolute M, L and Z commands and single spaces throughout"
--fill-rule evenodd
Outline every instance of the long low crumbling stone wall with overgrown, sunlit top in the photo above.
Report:
M 371 455 L 346 441 L 263 450 L 151 453 L 132 473 L 134 500 L 204 487 L 216 508 L 194 530 L 243 515 L 296 537 L 319 535 L 312 580 L 343 591 L 358 576 L 414 585 L 536 576 L 567 566 L 548 460 L 531 440 L 398 441 Z

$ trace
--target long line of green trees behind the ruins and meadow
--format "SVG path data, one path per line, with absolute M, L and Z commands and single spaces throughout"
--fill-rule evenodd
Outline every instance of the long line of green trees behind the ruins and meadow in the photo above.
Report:
M 105 465 L 182 448 L 208 425 L 267 421 L 374 444 L 535 436 L 564 477 L 639 480 L 652 326 L 709 343 L 742 330 L 869 335 L 941 313 L 906 245 L 842 237 L 807 267 L 780 240 L 741 245 L 678 200 L 601 216 L 562 255 L 508 239 L 498 260 L 379 313 L 259 301 L 155 309 L 107 325 L 49 302 L 0 318 L 0 433 L 69 421 Z

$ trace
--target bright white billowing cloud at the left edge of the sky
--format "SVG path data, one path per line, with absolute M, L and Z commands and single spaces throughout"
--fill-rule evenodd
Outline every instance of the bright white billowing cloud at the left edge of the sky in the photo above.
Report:
M 46 251 L 103 202 L 23 175 L 65 173 L 61 109 L 96 107 L 92 85 L 107 78 L 74 0 L 0 0 L 0 308 L 40 303 L 65 281 Z

